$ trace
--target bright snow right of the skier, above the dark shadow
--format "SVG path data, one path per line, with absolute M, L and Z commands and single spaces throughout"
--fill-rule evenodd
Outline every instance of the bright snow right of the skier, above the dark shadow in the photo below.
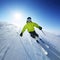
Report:
M 55 34 L 44 31 L 45 35 L 42 32 L 37 31 L 40 37 L 51 44 L 57 51 L 60 52 L 60 37 Z

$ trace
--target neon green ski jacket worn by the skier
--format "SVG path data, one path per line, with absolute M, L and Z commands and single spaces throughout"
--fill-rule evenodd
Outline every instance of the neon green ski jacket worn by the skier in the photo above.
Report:
M 42 29 L 41 26 L 39 26 L 38 24 L 34 23 L 34 22 L 28 22 L 25 24 L 25 26 L 22 29 L 22 33 L 24 33 L 24 31 L 27 29 L 28 32 L 33 32 L 34 31 L 34 27 L 39 28 L 40 30 Z

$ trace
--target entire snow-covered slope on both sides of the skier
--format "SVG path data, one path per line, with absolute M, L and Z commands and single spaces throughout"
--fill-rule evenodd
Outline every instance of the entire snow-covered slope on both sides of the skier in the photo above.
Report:
M 60 38 L 56 35 L 36 29 L 42 42 L 38 44 L 26 31 L 23 37 L 18 28 L 9 23 L 0 22 L 0 60 L 60 60 Z M 46 53 L 48 55 L 46 55 Z

